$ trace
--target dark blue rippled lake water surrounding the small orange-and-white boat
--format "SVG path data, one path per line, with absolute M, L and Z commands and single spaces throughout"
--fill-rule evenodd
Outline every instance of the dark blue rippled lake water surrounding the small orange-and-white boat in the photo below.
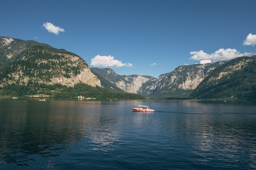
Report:
M 0 99 L 0 169 L 256 169 L 256 102 Z

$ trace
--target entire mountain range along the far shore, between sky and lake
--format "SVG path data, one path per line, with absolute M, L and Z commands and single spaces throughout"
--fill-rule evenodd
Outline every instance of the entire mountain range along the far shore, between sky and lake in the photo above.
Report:
M 118 75 L 110 68 L 90 68 L 85 60 L 65 49 L 0 36 L 0 94 L 9 96 L 12 89 L 16 89 L 13 95 L 54 92 L 59 98 L 62 94 L 68 97 L 72 93 L 83 93 L 99 98 L 141 98 L 143 95 L 166 99 L 256 100 L 255 60 L 256 56 L 251 56 L 180 65 L 158 78 L 126 76 Z

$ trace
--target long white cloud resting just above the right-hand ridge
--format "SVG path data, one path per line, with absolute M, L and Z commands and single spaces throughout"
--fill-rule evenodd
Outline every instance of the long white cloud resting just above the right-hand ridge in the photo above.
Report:
M 191 51 L 190 54 L 193 56 L 189 59 L 199 60 L 199 61 L 204 60 L 204 62 L 209 60 L 230 60 L 237 57 L 255 55 L 253 53 L 247 53 L 247 52 L 245 52 L 244 54 L 240 54 L 240 52 L 237 51 L 236 49 L 230 49 L 230 48 L 228 49 L 222 48 L 222 49 L 219 49 L 218 51 L 215 51 L 212 54 L 207 54 L 202 50 Z

